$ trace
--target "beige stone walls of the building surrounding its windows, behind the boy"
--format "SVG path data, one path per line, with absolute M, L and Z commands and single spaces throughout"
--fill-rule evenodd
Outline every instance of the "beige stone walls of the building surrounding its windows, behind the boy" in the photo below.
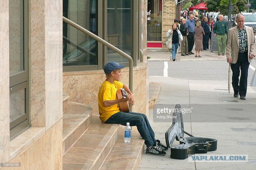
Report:
M 102 70 L 62 71 L 62 1 L 30 0 L 29 117 L 31 127 L 10 141 L 9 128 L 9 0 L 0 6 L 0 162 L 21 163 L 19 169 L 62 169 L 62 92 L 70 100 L 92 106 L 98 113 L 96 96 L 104 81 Z M 146 0 L 142 0 L 140 46 L 146 62 Z M 134 68 L 136 104 L 133 111 L 148 115 L 148 64 Z M 128 85 L 128 69 L 122 80 Z M 79 82 L 79 83 L 78 83 Z M 0 168 L 11 169 L 11 168 Z

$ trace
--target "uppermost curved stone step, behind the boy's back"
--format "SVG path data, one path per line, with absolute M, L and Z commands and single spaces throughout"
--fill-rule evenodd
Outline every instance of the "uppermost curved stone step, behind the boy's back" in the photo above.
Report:
M 92 124 L 92 108 L 76 102 L 68 102 L 63 112 L 62 149 L 63 155 Z

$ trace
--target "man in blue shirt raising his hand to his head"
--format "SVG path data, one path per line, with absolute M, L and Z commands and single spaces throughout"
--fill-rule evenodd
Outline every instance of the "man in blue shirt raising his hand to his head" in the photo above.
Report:
M 192 52 L 192 49 L 194 47 L 194 34 L 195 34 L 195 23 L 198 20 L 197 17 L 194 16 L 194 14 L 189 15 L 189 19 L 186 21 L 186 27 L 188 29 L 188 54 L 194 54 Z

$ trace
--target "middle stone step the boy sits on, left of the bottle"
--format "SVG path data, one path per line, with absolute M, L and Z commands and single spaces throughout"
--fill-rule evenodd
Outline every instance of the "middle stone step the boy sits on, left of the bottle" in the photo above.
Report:
M 117 140 L 118 127 L 93 115 L 92 125 L 63 156 L 63 170 L 98 170 Z

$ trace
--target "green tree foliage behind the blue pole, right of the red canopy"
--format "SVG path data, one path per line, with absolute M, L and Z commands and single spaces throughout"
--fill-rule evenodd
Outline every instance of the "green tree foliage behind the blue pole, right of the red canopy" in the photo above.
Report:
M 205 0 L 208 11 L 220 11 L 223 15 L 228 15 L 229 0 Z M 232 14 L 238 14 L 246 10 L 247 0 L 232 0 L 234 11 Z

